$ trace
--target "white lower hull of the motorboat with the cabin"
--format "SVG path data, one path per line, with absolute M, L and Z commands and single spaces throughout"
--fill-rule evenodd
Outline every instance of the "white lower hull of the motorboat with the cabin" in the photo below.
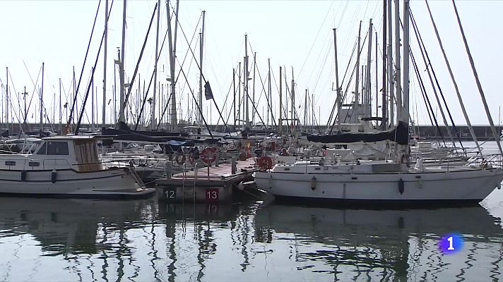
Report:
M 71 169 L 30 171 L 21 180 L 21 171 L 0 171 L 0 194 L 32 197 L 140 197 L 153 192 L 138 188 L 136 179 L 124 170 L 78 173 Z

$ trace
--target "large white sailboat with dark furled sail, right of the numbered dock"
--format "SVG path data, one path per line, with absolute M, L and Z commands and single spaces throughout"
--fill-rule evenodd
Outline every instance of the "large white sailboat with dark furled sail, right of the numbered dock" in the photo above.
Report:
M 408 42 L 408 0 L 404 1 L 403 49 Z M 399 40 L 397 40 L 399 42 Z M 276 164 L 270 170 L 254 173 L 258 188 L 276 198 L 290 200 L 329 200 L 345 203 L 374 202 L 409 204 L 425 202 L 480 202 L 503 180 L 501 163 L 477 163 L 463 166 L 423 166 L 418 160 L 408 166 L 408 138 L 400 137 L 408 128 L 408 51 L 403 51 L 403 109 L 399 111 L 396 131 L 360 133 L 360 136 L 344 135 L 343 138 L 364 138 L 369 142 L 391 140 L 396 143 L 396 160 L 334 162 L 297 161 L 295 164 Z M 397 61 L 400 61 L 399 57 Z M 399 75 L 399 68 L 397 69 Z M 399 77 L 399 76 L 398 76 Z M 402 93 L 398 88 L 396 93 Z M 397 111 L 398 112 L 398 111 Z M 407 131 L 406 131 L 407 132 Z M 365 135 L 365 136 L 361 136 Z M 330 140 L 331 138 L 338 138 Z M 320 137 L 319 142 L 340 142 L 341 136 Z

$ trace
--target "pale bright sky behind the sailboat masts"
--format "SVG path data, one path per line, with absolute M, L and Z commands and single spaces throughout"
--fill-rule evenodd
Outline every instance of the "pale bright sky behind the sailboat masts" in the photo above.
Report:
M 400 13 L 403 13 L 403 1 L 400 1 Z M 39 121 L 38 93 L 42 87 L 42 62 L 44 63 L 44 109 L 51 121 L 63 123 L 68 120 L 69 108 L 59 110 L 59 80 L 61 79 L 61 104 L 69 103 L 73 93 L 73 68 L 78 82 L 83 68 L 85 52 L 88 47 L 93 21 L 98 8 L 98 0 L 0 0 L 0 83 L 1 102 L 0 120 L 6 118 L 5 89 L 8 83 L 11 92 L 11 107 L 14 112 L 14 122 L 23 120 L 25 111 L 24 99 L 28 109 L 28 121 Z M 110 3 L 112 1 L 110 0 Z M 117 48 L 122 44 L 122 0 L 114 0 L 108 24 L 107 44 L 107 123 L 115 121 L 118 110 L 114 112 L 114 85 L 119 84 L 117 68 L 114 59 L 117 59 Z M 154 0 L 129 0 L 126 2 L 126 43 L 124 69 L 126 81 L 130 82 L 136 62 L 140 56 L 143 40 L 146 37 L 148 24 L 153 15 Z M 471 66 L 463 47 L 461 33 L 456 22 L 456 16 L 451 1 L 429 1 L 432 14 L 439 29 L 446 55 L 449 58 L 454 77 L 458 84 L 463 102 L 472 124 L 488 124 L 487 116 L 483 109 L 477 85 Z M 175 2 L 171 1 L 174 6 Z M 499 118 L 499 108 L 502 105 L 501 87 L 499 86 L 499 65 L 503 62 L 501 52 L 502 30 L 497 22 L 500 11 L 503 11 L 503 1 L 456 1 L 461 23 L 468 39 L 468 45 L 477 68 L 480 82 L 485 92 L 487 104 L 495 124 Z M 394 9 L 394 8 L 393 8 Z M 425 6 L 425 1 L 410 1 L 410 9 L 418 23 L 422 39 L 430 55 L 432 66 L 439 79 L 439 84 L 449 104 L 449 109 L 456 124 L 466 124 L 461 112 L 456 92 L 444 63 L 439 44 L 434 35 L 430 17 Z M 382 49 L 382 1 L 356 1 L 356 0 L 320 0 L 320 1 L 180 1 L 179 3 L 179 30 L 177 35 L 177 67 L 178 76 L 180 65 L 183 64 L 184 73 L 177 80 L 177 111 L 179 119 L 194 120 L 194 104 L 191 92 L 197 95 L 199 91 L 199 69 L 194 56 L 199 61 L 199 32 L 201 30 L 201 11 L 206 11 L 204 48 L 203 48 L 203 76 L 211 83 L 216 104 L 228 123 L 234 123 L 232 113 L 232 70 L 239 68 L 239 62 L 244 57 L 244 35 L 249 40 L 249 94 L 255 88 L 255 107 L 258 114 L 252 114 L 250 105 L 249 117 L 254 116 L 255 123 L 266 122 L 267 106 L 264 90 L 267 90 L 268 59 L 271 62 L 272 80 L 272 107 L 275 118 L 278 118 L 280 66 L 283 68 L 283 102 L 286 92 L 290 92 L 292 78 L 295 80 L 295 109 L 301 123 L 304 121 L 304 99 L 306 90 L 309 100 L 313 100 L 307 108 L 307 119 L 312 116 L 316 123 L 322 125 L 328 122 L 331 109 L 336 99 L 335 88 L 335 62 L 333 51 L 333 28 L 337 29 L 338 43 L 338 71 L 342 88 L 348 85 L 348 77 L 343 80 L 344 71 L 355 65 L 355 58 L 351 57 L 353 46 L 358 37 L 358 25 L 362 21 L 362 40 L 369 29 L 369 20 L 372 18 L 374 27 L 372 45 L 372 97 L 375 96 L 375 33 L 378 41 L 378 89 L 381 85 L 381 49 Z M 81 85 L 78 91 L 76 109 L 81 110 L 85 90 L 90 82 L 91 67 L 94 66 L 100 39 L 104 30 L 105 0 L 100 3 L 95 24 L 95 32 L 90 42 L 88 59 L 85 63 Z M 129 99 L 131 107 L 128 111 L 133 116 L 138 115 L 138 103 L 142 97 L 138 95 L 148 88 L 148 82 L 153 72 L 155 63 L 155 32 L 156 16 L 146 43 L 141 62 L 138 64 L 138 75 L 132 87 Z M 160 5 L 160 42 L 167 30 L 166 3 Z M 412 31 L 412 27 L 410 29 Z M 195 35 L 194 39 L 192 37 Z M 189 51 L 191 49 L 194 55 Z M 439 123 L 442 124 L 440 112 L 434 94 L 426 76 L 425 64 L 415 40 L 415 35 L 410 35 L 413 54 L 418 61 L 422 79 L 432 100 L 432 108 L 437 113 Z M 394 46 L 393 46 L 394 49 Z M 367 64 L 367 41 L 362 44 L 360 65 Z M 256 52 L 256 63 L 254 53 Z M 394 51 L 393 51 L 394 53 Z M 83 123 L 92 120 L 91 105 L 95 108 L 95 122 L 102 121 L 102 81 L 103 50 L 97 59 L 95 71 L 95 98 L 92 103 L 91 94 L 85 106 Z M 243 68 L 243 63 L 241 63 Z M 117 77 L 114 80 L 114 74 Z M 410 114 L 418 124 L 428 124 L 427 108 L 423 102 L 418 79 L 410 68 Z M 167 57 L 167 43 L 163 47 L 159 60 L 158 82 L 161 89 L 158 91 L 158 106 L 156 116 L 162 111 L 160 104 L 167 99 L 167 78 L 169 77 L 169 61 Z M 236 85 L 238 76 L 235 77 Z M 350 82 L 348 89 L 354 89 L 354 82 Z M 285 89 L 288 83 L 288 89 Z M 360 85 L 362 82 L 360 82 Z M 145 84 L 145 87 L 143 85 Z M 236 86 L 236 87 L 237 87 Z M 26 94 L 23 96 L 24 87 Z M 162 90 L 162 91 L 161 91 Z M 354 91 L 354 90 L 353 90 Z M 152 97 L 153 89 L 147 94 L 147 99 Z M 112 101 L 110 101 L 112 99 Z M 117 102 L 119 94 L 117 90 Z M 288 98 L 290 99 L 290 98 Z M 349 98 L 345 102 L 350 102 Z M 290 104 L 290 101 L 288 102 Z M 374 103 L 374 100 L 372 100 Z M 379 105 L 381 102 L 379 101 Z M 27 108 L 28 108 L 27 106 Z M 162 107 L 164 105 L 162 104 Z M 374 108 L 374 106 L 373 106 Z M 218 121 L 218 112 L 211 100 L 204 100 L 201 106 L 208 123 L 222 123 Z M 12 118 L 11 111 L 11 118 Z M 146 112 L 150 106 L 146 103 Z M 290 109 L 288 110 L 290 111 Z M 146 115 L 146 123 L 150 118 Z M 259 118 L 261 116 L 261 118 Z M 230 117 L 230 118 L 227 118 Z M 9 118 L 9 119 L 11 119 Z M 136 120 L 129 116 L 129 123 Z M 272 121 L 269 120 L 269 123 Z

